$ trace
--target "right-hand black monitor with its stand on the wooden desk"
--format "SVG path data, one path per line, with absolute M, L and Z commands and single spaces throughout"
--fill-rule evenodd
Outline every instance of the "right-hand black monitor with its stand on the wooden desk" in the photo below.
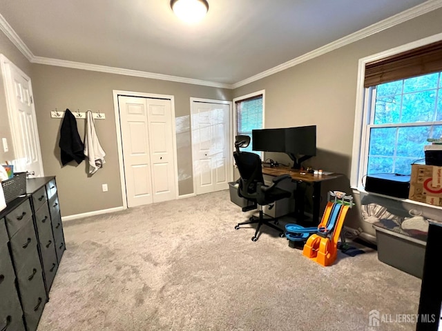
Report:
M 294 161 L 293 168 L 316 155 L 316 126 L 298 126 L 285 129 L 285 153 Z

